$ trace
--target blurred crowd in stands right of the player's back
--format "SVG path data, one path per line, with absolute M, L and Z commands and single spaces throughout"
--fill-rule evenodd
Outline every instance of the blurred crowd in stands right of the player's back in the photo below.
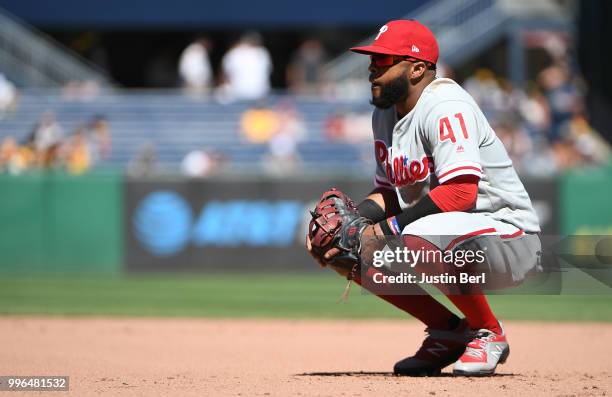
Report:
M 543 69 L 525 89 L 486 69 L 476 71 L 463 86 L 521 174 L 552 175 L 609 160 L 610 145 L 590 126 L 582 80 L 568 62 Z

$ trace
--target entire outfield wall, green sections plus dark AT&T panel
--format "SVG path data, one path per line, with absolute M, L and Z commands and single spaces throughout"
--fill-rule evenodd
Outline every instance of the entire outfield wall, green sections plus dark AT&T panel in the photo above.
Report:
M 612 168 L 525 181 L 547 234 L 612 233 Z M 2 272 L 303 271 L 308 209 L 361 179 L 0 175 Z

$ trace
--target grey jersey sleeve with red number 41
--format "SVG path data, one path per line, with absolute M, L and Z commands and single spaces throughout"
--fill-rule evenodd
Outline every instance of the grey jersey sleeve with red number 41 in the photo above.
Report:
M 424 134 L 440 184 L 460 175 L 483 176 L 480 131 L 475 110 L 469 103 L 437 104 L 425 120 Z

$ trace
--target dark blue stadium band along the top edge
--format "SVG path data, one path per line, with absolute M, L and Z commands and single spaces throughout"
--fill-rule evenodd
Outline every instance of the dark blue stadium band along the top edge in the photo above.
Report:
M 44 29 L 274 28 L 377 26 L 428 0 L 0 0 L 0 7 Z

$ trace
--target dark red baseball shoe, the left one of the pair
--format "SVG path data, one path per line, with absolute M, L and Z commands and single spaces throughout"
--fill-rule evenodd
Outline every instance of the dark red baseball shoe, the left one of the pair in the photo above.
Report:
M 412 357 L 395 363 L 393 373 L 404 376 L 435 376 L 442 368 L 457 361 L 469 342 L 469 327 L 465 319 L 457 328 L 444 331 L 426 328 L 427 337 Z

